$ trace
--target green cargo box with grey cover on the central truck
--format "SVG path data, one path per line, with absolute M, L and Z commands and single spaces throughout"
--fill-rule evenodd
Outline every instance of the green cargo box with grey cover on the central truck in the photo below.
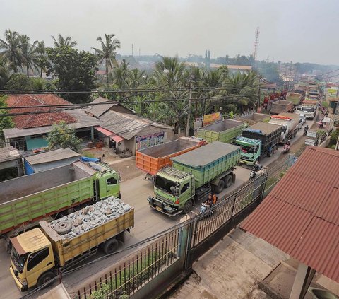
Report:
M 194 175 L 196 188 L 239 164 L 240 148 L 215 141 L 172 158 L 173 168 Z

